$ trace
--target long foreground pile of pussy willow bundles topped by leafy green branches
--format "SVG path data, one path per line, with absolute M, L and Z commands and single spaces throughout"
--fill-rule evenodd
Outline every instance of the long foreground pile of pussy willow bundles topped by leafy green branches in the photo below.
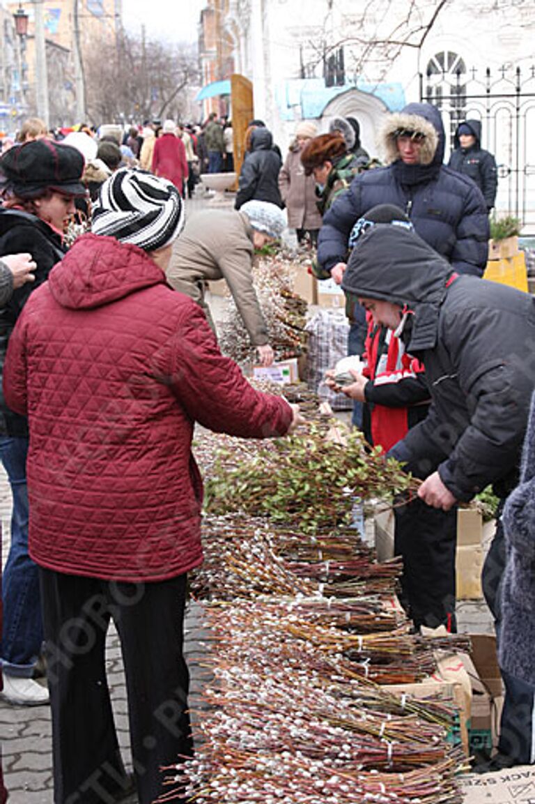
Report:
M 435 650 L 468 640 L 410 633 L 389 605 L 398 561 L 377 564 L 349 527 L 355 496 L 391 499 L 411 480 L 308 413 L 296 436 L 209 461 L 192 591 L 214 680 L 192 712 L 202 746 L 166 769 L 159 801 L 459 804 L 453 704 L 379 685 L 422 680 Z

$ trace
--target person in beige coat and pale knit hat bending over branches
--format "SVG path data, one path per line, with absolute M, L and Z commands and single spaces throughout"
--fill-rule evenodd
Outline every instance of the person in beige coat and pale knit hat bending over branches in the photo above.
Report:
M 214 332 L 204 298 L 205 283 L 227 281 L 263 366 L 272 365 L 274 353 L 252 281 L 252 260 L 255 248 L 280 238 L 285 226 L 284 212 L 267 201 L 247 201 L 239 211 L 202 210 L 187 221 L 182 236 L 174 244 L 166 272 L 172 288 L 202 306 Z

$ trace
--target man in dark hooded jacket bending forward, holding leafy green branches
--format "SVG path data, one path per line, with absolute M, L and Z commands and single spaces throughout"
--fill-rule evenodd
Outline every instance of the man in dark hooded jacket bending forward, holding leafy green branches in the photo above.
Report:
M 492 484 L 503 500 L 517 483 L 535 387 L 535 299 L 459 276 L 415 232 L 386 224 L 358 240 L 342 287 L 426 367 L 429 413 L 389 453 L 424 478 L 419 498 L 447 511 Z M 499 521 L 483 575 L 498 638 L 505 560 Z M 533 690 L 502 675 L 499 753 L 489 769 L 535 761 Z

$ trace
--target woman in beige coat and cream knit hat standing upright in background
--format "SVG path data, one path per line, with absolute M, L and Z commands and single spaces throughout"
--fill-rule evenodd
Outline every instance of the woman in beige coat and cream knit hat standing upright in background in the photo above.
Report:
M 296 229 L 299 243 L 310 240 L 312 244 L 316 244 L 321 227 L 316 182 L 313 176 L 304 173 L 300 158 L 304 146 L 316 135 L 317 127 L 314 123 L 302 121 L 296 125 L 295 139 L 279 174 L 280 195 L 288 211 L 288 226 Z

